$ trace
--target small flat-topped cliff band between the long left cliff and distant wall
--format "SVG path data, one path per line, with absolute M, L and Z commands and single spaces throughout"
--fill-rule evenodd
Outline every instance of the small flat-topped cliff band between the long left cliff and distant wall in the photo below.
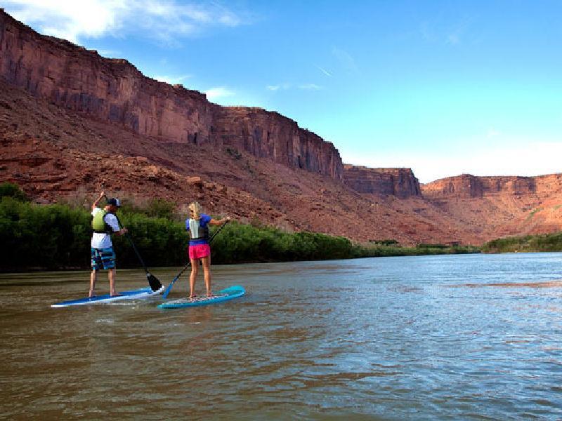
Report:
M 410 168 L 367 168 L 344 165 L 344 182 L 355 192 L 420 197 L 419 181 Z

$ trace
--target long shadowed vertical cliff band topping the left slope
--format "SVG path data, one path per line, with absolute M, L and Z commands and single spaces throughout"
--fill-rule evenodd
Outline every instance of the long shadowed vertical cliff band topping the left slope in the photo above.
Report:
M 163 142 L 210 143 L 341 179 L 339 152 L 276 112 L 221 107 L 131 63 L 42 36 L 0 9 L 0 77 L 55 105 Z

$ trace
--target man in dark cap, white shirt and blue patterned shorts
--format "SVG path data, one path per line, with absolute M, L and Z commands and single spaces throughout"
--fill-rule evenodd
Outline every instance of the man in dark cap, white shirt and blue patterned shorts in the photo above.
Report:
M 100 196 L 92 204 L 92 241 L 91 241 L 91 258 L 92 273 L 90 275 L 90 294 L 93 297 L 93 290 L 98 280 L 98 270 L 106 269 L 107 277 L 110 280 L 110 295 L 119 295 L 115 292 L 115 253 L 113 251 L 113 243 L 111 242 L 111 234 L 123 235 L 127 232 L 126 228 L 119 229 L 119 222 L 115 212 L 121 206 L 119 199 L 109 199 L 105 208 L 98 208 L 98 203 L 105 196 L 105 192 L 101 192 Z

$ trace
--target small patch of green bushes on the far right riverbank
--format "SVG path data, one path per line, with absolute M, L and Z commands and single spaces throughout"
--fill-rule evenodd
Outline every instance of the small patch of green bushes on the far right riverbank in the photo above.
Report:
M 485 243 L 482 251 L 484 253 L 562 251 L 562 232 L 496 239 Z

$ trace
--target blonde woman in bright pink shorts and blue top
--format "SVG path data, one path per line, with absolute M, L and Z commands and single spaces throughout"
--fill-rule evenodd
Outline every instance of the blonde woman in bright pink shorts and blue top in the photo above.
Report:
M 189 205 L 190 218 L 185 220 L 185 229 L 189 231 L 189 260 L 191 262 L 191 274 L 189 277 L 189 298 L 195 298 L 195 279 L 199 272 L 199 262 L 203 266 L 207 298 L 211 293 L 211 247 L 209 246 L 209 225 L 223 225 L 230 218 L 214 220 L 203 213 L 201 205 L 197 202 Z

